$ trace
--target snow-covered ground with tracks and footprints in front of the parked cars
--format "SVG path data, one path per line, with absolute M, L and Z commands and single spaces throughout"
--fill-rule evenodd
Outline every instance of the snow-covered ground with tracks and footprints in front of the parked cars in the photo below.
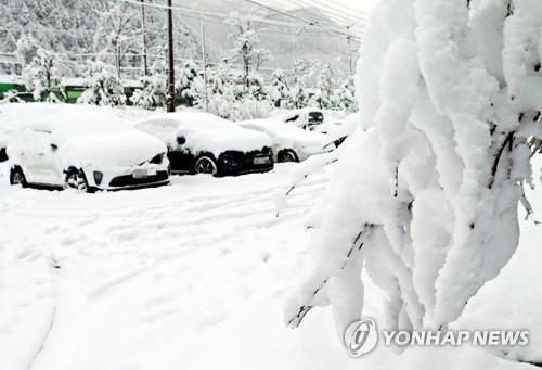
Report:
M 286 329 L 281 301 L 309 247 L 302 216 L 325 186 L 325 176 L 315 176 L 276 218 L 272 194 L 293 166 L 98 194 L 16 189 L 3 179 L 0 369 L 531 368 L 470 348 L 349 359 L 327 309 Z M 532 201 L 542 207 L 542 196 Z M 505 270 L 512 278 L 482 290 L 488 297 L 467 309 L 465 326 L 473 318 L 494 327 L 508 315 L 511 326 L 542 328 L 541 232 L 525 228 L 528 240 Z M 530 280 L 526 305 L 538 309 L 509 303 L 522 299 L 522 279 Z M 379 295 L 367 290 L 374 299 L 365 310 L 377 317 Z

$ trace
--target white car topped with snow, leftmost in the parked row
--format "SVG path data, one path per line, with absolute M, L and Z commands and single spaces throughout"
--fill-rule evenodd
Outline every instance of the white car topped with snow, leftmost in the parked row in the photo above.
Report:
M 169 183 L 166 145 L 122 120 L 92 125 L 73 114 L 34 123 L 7 149 L 11 184 L 80 191 L 139 189 Z

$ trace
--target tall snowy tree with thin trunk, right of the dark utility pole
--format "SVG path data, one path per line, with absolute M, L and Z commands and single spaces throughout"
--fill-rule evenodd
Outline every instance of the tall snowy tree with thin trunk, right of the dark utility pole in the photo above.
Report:
M 230 51 L 231 60 L 242 64 L 247 88 L 251 74 L 250 68 L 258 71 L 264 62 L 271 59 L 269 50 L 259 47 L 258 25 L 253 18 L 254 14 L 245 16 L 238 12 L 233 12 L 225 21 L 227 24 L 234 28 L 228 35 L 229 38 L 233 39 L 233 48 Z

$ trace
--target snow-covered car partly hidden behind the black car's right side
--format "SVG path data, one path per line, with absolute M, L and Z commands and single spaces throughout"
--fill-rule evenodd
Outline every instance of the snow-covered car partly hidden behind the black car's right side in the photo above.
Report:
M 268 135 L 273 144 L 275 162 L 301 162 L 314 154 L 328 152 L 326 136 L 320 132 L 307 131 L 294 125 L 284 125 L 276 119 L 250 119 L 237 123 L 241 127 Z M 326 146 L 326 148 L 324 148 Z

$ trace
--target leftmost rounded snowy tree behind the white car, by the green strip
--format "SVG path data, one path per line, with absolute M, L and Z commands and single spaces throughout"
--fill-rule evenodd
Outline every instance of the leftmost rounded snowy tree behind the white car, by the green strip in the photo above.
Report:
M 61 93 L 61 59 L 54 52 L 38 49 L 36 56 L 23 69 L 26 89 L 31 91 L 34 100 L 57 102 Z M 53 91 L 54 90 L 54 91 Z

